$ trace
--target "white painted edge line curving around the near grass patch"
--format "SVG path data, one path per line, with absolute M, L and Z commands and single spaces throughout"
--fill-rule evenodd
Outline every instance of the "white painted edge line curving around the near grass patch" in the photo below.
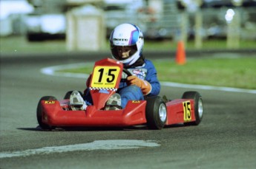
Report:
M 45 75 L 87 78 L 89 76 L 88 74 L 57 72 L 57 71 L 62 70 L 62 69 L 77 69 L 79 67 L 85 67 L 85 66 L 89 66 L 89 65 L 91 66 L 92 64 L 93 63 L 74 63 L 74 64 L 68 64 L 68 65 L 50 66 L 50 67 L 41 69 L 41 72 Z M 193 84 L 173 83 L 173 82 L 160 82 L 160 83 L 162 86 L 168 86 L 168 87 L 216 90 L 216 91 L 223 91 L 223 92 L 242 92 L 242 93 L 256 94 L 256 90 L 253 90 L 253 89 L 239 89 L 239 88 L 222 87 L 222 86 L 193 85 Z

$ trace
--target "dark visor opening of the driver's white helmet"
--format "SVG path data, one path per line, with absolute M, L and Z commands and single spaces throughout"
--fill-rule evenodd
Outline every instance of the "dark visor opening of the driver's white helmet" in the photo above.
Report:
M 131 46 L 115 46 L 111 45 L 111 52 L 114 58 L 118 61 L 123 61 L 130 58 L 137 52 L 137 44 Z

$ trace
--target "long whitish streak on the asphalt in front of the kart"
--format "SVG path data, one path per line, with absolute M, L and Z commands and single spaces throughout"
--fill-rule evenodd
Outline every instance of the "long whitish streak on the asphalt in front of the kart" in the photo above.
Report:
M 160 146 L 152 140 L 137 140 L 137 139 L 113 139 L 113 140 L 97 140 L 84 144 L 62 145 L 56 147 L 45 147 L 28 149 L 25 151 L 1 152 L 0 159 L 10 157 L 32 156 L 40 154 L 65 153 L 70 151 L 95 151 L 95 150 L 119 150 L 132 148 L 146 148 Z

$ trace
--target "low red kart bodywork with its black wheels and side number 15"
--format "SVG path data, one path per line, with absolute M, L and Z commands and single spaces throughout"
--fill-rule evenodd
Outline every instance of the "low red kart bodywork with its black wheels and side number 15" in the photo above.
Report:
M 161 97 L 130 100 L 122 110 L 69 111 L 69 100 L 42 97 L 37 107 L 37 120 L 43 129 L 68 126 L 130 126 L 148 125 L 161 129 L 165 125 L 184 123 L 198 125 L 203 118 L 203 100 L 198 92 L 185 92 L 182 99 L 165 102 Z

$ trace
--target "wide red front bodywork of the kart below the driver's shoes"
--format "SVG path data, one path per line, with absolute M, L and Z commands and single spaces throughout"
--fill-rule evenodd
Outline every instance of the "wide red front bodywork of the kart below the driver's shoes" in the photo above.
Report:
M 146 123 L 146 101 L 129 101 L 123 110 L 97 110 L 88 106 L 86 111 L 65 111 L 56 101 L 53 105 L 42 102 L 43 123 L 50 126 L 129 126 Z

